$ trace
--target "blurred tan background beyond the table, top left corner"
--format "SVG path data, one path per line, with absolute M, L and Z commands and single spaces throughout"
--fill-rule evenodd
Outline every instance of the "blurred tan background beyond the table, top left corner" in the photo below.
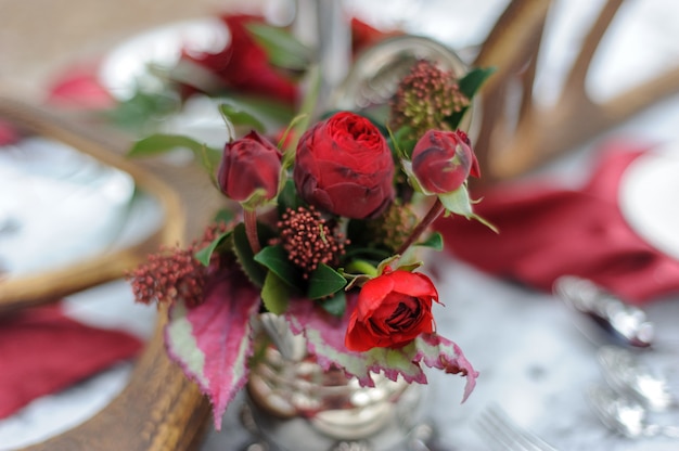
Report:
M 36 98 L 55 70 L 93 61 L 123 39 L 162 24 L 260 0 L 0 0 L 0 89 Z M 243 4 L 246 3 L 246 4 Z

